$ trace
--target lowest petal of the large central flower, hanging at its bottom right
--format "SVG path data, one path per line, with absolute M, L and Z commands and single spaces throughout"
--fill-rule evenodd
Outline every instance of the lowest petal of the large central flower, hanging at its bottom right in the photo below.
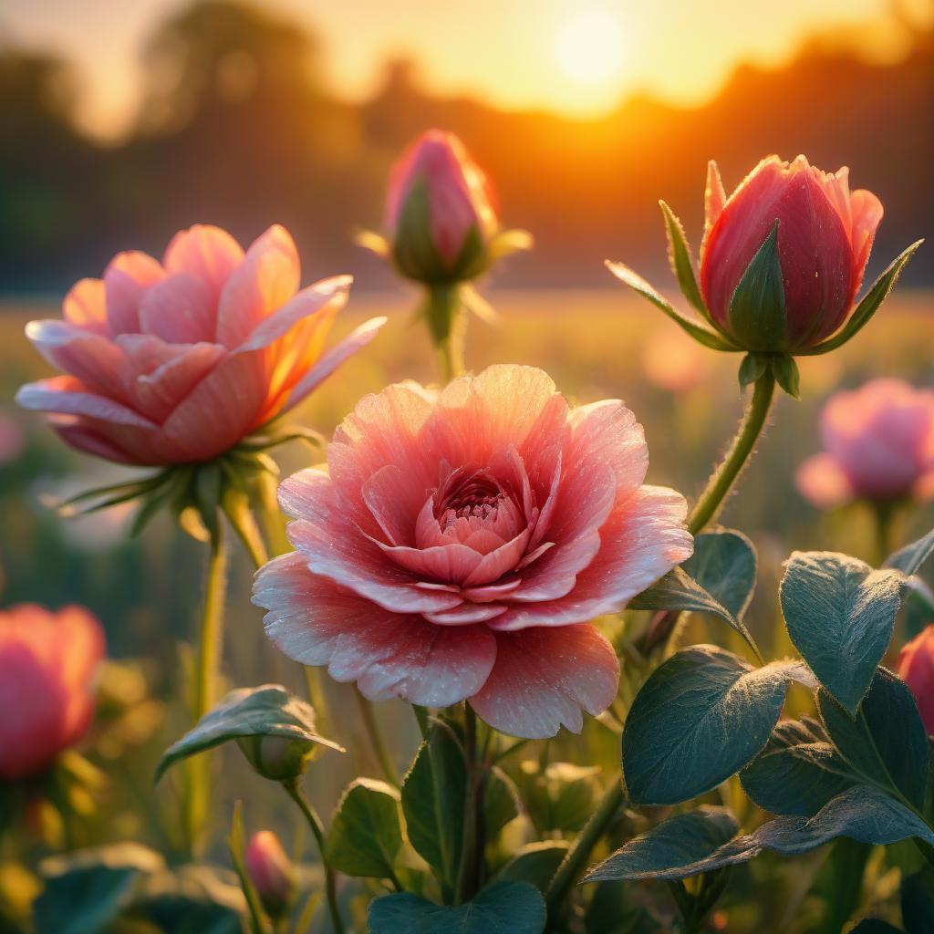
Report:
M 616 697 L 619 662 L 592 626 L 497 632 L 496 664 L 470 699 L 490 727 L 523 739 L 579 733 L 582 710 L 596 716 Z

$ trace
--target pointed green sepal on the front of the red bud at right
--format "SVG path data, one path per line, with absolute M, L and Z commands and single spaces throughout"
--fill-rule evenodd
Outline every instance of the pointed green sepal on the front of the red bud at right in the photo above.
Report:
M 729 333 L 747 350 L 784 350 L 788 345 L 785 285 L 778 258 L 778 220 L 746 266 L 729 300 Z

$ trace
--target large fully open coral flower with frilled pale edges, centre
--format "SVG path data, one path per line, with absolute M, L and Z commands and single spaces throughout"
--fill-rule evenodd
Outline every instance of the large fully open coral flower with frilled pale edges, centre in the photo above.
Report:
M 616 696 L 591 625 L 691 554 L 686 502 L 643 485 L 623 403 L 571 408 L 541 370 L 366 396 L 328 472 L 279 488 L 298 549 L 257 575 L 266 631 L 372 700 L 468 699 L 524 737 L 578 731 Z

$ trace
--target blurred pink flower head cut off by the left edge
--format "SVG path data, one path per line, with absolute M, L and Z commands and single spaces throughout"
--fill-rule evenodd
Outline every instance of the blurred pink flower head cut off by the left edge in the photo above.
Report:
M 91 722 L 100 623 L 78 606 L 0 611 L 0 779 L 25 778 L 77 743 Z

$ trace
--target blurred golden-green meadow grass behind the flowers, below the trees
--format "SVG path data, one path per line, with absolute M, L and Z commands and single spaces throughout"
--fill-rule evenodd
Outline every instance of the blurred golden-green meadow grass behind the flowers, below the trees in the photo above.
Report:
M 297 413 L 298 420 L 330 435 L 340 419 L 367 392 L 405 378 L 432 382 L 432 348 L 412 314 L 415 295 L 355 294 L 335 328 L 335 338 L 362 319 L 385 314 L 389 323 L 357 358 L 349 361 Z M 742 399 L 736 381 L 739 357 L 699 350 L 710 370 L 694 389 L 672 395 L 644 372 L 645 349 L 659 334 L 677 338 L 674 326 L 647 304 L 622 290 L 590 292 L 492 292 L 500 313 L 497 326 L 472 320 L 467 361 L 480 370 L 495 362 L 521 362 L 544 368 L 569 398 L 587 403 L 624 399 L 644 424 L 650 451 L 649 482 L 667 484 L 688 499 L 702 488 L 719 452 L 729 443 Z M 44 493 L 77 491 L 119 478 L 124 471 L 73 454 L 42 423 L 12 403 L 16 388 L 49 369 L 22 335 L 30 318 L 56 317 L 52 303 L 0 304 L 0 416 L 11 417 L 26 434 L 21 455 L 0 464 L 0 605 L 39 601 L 52 606 L 79 602 L 105 623 L 108 647 L 118 658 L 140 658 L 156 695 L 177 698 L 181 683 L 177 643 L 191 637 L 201 590 L 200 545 L 167 520 L 154 523 L 128 541 L 126 514 L 64 520 L 43 505 Z M 672 336 L 673 335 L 673 336 Z M 848 347 L 825 358 L 801 361 L 803 401 L 785 396 L 777 403 L 774 424 L 738 493 L 723 514 L 724 524 L 750 535 L 759 551 L 760 582 L 751 627 L 768 654 L 789 646 L 776 626 L 777 580 L 781 562 L 794 548 L 842 550 L 873 559 L 869 515 L 860 507 L 821 516 L 794 487 L 797 465 L 818 449 L 821 403 L 836 388 L 854 386 L 875 375 L 898 375 L 918 385 L 934 385 L 934 295 L 903 292 L 894 296 L 869 327 Z M 314 460 L 303 446 L 278 455 L 287 474 Z M 929 507 L 905 517 L 899 540 L 908 541 L 934 524 Z M 261 612 L 249 603 L 251 568 L 243 555 L 233 563 L 225 672 L 232 685 L 279 681 L 302 689 L 298 666 L 281 657 L 262 633 Z M 731 644 L 722 630 L 704 632 L 692 623 L 692 641 Z M 340 789 L 358 774 L 377 775 L 347 686 L 327 685 L 333 722 L 329 729 L 350 752 L 329 757 L 327 768 L 313 770 L 312 794 L 329 813 Z M 417 743 L 414 720 L 401 704 L 380 705 L 400 767 Z M 177 703 L 161 732 L 134 762 L 135 780 L 148 781 L 160 743 L 185 729 Z M 553 743 L 553 757 L 579 764 L 601 762 L 612 769 L 618 741 L 606 730 Z M 218 785 L 216 813 L 226 819 L 233 800 L 249 801 L 248 824 L 287 823 L 281 804 L 261 794 L 236 753 L 224 753 L 225 780 Z M 125 765 L 125 763 L 124 763 Z M 609 775 L 609 771 L 607 771 Z M 147 785 L 148 786 L 148 785 Z M 167 796 L 169 792 L 165 792 Z M 138 821 L 139 818 L 136 818 Z M 151 828 L 132 820 L 117 822 L 106 836 L 142 835 Z M 155 838 L 158 840 L 158 838 Z M 753 870 L 756 871 L 756 870 Z M 741 928 L 737 928 L 741 929 Z M 742 927 L 742 929 L 745 929 Z

